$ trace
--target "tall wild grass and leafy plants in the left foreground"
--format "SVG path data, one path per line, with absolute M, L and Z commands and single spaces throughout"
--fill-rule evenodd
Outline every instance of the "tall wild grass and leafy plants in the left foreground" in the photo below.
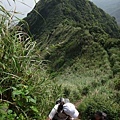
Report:
M 36 42 L 0 11 L 0 120 L 44 120 L 61 88 L 46 74 Z

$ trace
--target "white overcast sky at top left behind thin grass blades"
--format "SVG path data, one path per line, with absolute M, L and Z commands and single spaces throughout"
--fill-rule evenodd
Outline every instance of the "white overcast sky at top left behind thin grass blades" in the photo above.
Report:
M 8 2 L 9 1 L 9 2 Z M 15 3 L 13 2 L 15 1 Z M 35 2 L 39 0 L 0 0 L 0 5 L 3 5 L 8 11 L 14 11 L 16 6 L 16 14 L 19 18 L 24 18 L 35 6 Z

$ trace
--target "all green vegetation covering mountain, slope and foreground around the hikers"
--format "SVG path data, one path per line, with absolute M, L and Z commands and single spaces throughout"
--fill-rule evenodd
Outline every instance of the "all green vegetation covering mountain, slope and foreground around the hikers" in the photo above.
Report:
M 119 120 L 120 28 L 115 19 L 88 0 L 40 0 L 34 9 L 13 30 L 2 20 L 2 119 L 44 120 L 63 93 L 74 103 L 81 100 L 81 120 L 98 110 Z

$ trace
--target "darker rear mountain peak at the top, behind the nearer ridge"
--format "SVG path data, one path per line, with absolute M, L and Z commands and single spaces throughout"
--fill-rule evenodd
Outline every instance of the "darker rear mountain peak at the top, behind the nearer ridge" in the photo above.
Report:
M 118 32 L 112 32 L 118 31 L 114 18 L 88 0 L 40 0 L 25 20 L 31 33 L 37 37 L 37 33 L 41 36 L 44 31 L 50 32 L 64 22 L 79 26 L 99 26 L 111 36 L 118 36 Z

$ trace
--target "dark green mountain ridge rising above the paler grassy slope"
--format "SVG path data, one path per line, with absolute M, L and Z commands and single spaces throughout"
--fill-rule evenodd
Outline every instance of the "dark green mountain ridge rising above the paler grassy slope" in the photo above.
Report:
M 120 36 L 114 18 L 87 0 L 41 0 L 35 10 L 24 20 L 55 70 L 80 56 L 92 41 L 104 46 Z

